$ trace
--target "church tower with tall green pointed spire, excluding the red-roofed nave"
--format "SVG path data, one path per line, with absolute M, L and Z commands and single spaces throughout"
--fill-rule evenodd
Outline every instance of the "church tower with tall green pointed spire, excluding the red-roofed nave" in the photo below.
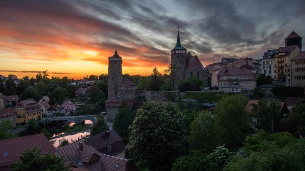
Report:
M 175 90 L 178 89 L 178 83 L 180 80 L 185 80 L 185 70 L 187 67 L 187 49 L 181 46 L 180 36 L 178 30 L 176 46 L 170 51 L 171 54 L 171 66 L 175 67 Z

